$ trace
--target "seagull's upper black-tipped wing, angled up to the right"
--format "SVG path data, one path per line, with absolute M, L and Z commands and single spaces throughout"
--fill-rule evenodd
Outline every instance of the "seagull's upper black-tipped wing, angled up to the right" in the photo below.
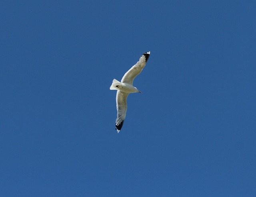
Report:
M 130 70 L 128 70 L 126 72 L 126 74 L 124 74 L 121 83 L 125 83 L 125 84 L 131 84 L 133 83 L 134 78 L 136 78 L 136 76 L 138 76 L 140 74 L 140 72 L 142 71 L 142 69 L 144 68 L 144 66 L 146 66 L 146 63 L 148 61 L 150 55 L 150 51 L 149 52 L 145 52 L 141 57 L 140 60 L 134 65 L 132 66 L 132 68 L 130 68 Z

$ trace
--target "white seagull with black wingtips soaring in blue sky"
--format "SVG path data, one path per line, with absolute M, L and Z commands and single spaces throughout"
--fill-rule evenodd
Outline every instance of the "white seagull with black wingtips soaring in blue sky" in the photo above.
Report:
M 142 54 L 139 61 L 124 74 L 121 82 L 118 82 L 118 80 L 114 79 L 112 82 L 112 85 L 110 86 L 110 90 L 117 90 L 116 92 L 116 109 L 117 109 L 116 132 L 117 133 L 119 133 L 119 131 L 122 129 L 122 126 L 124 124 L 124 119 L 127 111 L 126 100 L 128 95 L 130 93 L 140 92 L 132 84 L 133 84 L 134 78 L 136 78 L 136 76 L 138 76 L 142 71 L 142 69 L 146 66 L 149 55 L 150 55 L 150 51 Z

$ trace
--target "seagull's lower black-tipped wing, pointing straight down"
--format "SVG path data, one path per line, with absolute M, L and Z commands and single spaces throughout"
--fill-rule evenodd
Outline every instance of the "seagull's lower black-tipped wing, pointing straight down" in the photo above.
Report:
M 124 124 L 124 119 L 126 116 L 127 111 L 127 97 L 129 93 L 121 92 L 118 90 L 116 92 L 116 110 L 117 110 L 117 118 L 116 118 L 116 132 L 119 133 L 119 131 L 122 129 L 122 126 Z

